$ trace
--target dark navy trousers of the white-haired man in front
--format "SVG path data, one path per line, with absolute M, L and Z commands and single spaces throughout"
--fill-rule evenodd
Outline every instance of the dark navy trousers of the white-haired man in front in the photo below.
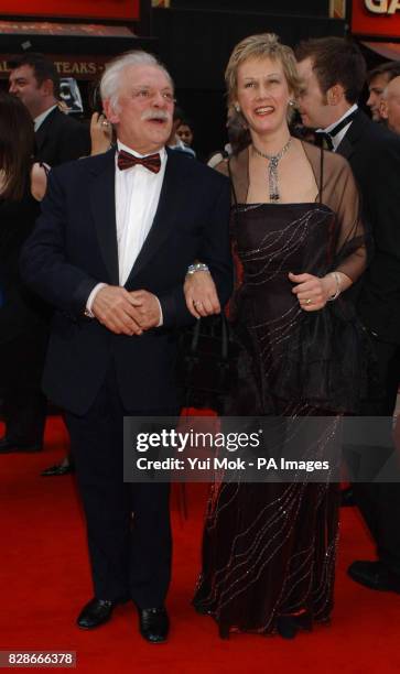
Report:
M 90 410 L 66 414 L 99 599 L 131 597 L 141 608 L 164 602 L 172 556 L 170 486 L 123 482 L 123 415 L 172 413 L 176 410 L 123 409 L 112 367 Z

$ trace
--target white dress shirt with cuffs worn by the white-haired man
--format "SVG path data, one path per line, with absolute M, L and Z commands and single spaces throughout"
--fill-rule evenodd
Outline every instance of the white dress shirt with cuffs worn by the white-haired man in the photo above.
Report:
M 118 150 L 125 150 L 134 156 L 147 156 L 134 152 L 120 141 Z M 118 168 L 118 152 L 116 152 L 116 222 L 117 246 L 119 263 L 119 284 L 123 286 L 130 271 L 142 249 L 149 235 L 154 216 L 159 206 L 161 187 L 164 180 L 166 166 L 166 151 L 160 150 L 161 167 L 159 173 L 152 173 L 140 164 L 125 168 Z M 105 283 L 98 283 L 91 291 L 86 303 L 87 315 L 91 315 L 91 306 L 98 291 Z M 160 305 L 162 325 L 162 313 Z

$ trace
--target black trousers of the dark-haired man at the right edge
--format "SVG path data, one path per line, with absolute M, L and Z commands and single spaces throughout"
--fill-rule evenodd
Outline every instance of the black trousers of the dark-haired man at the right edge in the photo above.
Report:
M 389 435 L 399 387 L 400 349 L 378 339 L 375 347 L 386 391 L 381 411 L 387 417 L 383 433 Z M 379 558 L 393 573 L 400 574 L 400 482 L 354 482 L 353 487 L 357 506 L 377 544 Z

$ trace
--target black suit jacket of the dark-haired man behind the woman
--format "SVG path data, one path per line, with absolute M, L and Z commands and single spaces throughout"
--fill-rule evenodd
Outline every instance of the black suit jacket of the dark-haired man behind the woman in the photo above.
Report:
M 337 152 L 353 168 L 374 237 L 358 312 L 382 341 L 400 344 L 400 137 L 359 110 Z

